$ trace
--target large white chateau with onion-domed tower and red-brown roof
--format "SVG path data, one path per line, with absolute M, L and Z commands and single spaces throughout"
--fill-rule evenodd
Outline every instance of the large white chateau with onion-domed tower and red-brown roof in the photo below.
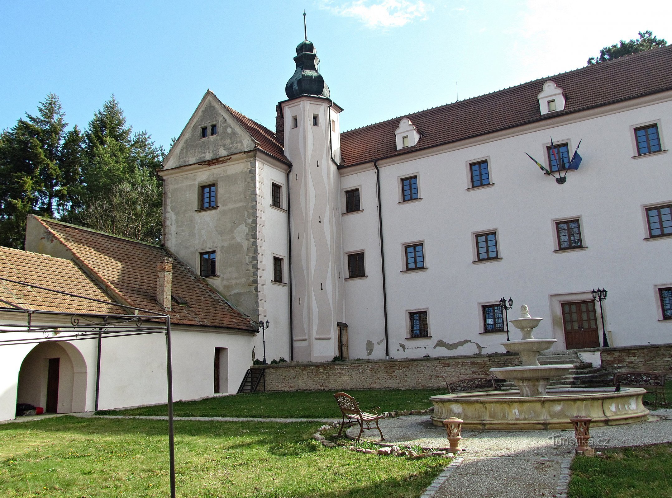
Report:
M 557 349 L 671 342 L 672 47 L 347 132 L 294 61 L 275 132 L 208 91 L 160 172 L 165 246 L 269 321 L 257 358 L 500 352 L 502 297 Z

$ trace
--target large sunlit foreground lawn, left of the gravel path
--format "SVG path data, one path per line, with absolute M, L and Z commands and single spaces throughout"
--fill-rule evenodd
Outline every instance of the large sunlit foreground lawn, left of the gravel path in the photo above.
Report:
M 178 497 L 418 497 L 446 465 L 325 448 L 319 424 L 175 422 Z M 2 497 L 166 497 L 167 424 L 56 417 L 0 425 Z

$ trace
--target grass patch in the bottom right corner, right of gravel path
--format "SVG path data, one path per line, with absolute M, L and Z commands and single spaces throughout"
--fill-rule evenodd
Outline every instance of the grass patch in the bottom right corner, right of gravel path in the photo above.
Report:
M 577 456 L 569 498 L 672 498 L 672 444 L 605 450 Z

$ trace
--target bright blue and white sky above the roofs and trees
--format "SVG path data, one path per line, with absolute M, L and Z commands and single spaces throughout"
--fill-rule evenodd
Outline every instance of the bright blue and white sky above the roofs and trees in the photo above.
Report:
M 49 92 L 84 128 L 114 94 L 167 146 L 211 89 L 272 130 L 304 8 L 343 130 L 455 101 L 456 83 L 465 99 L 581 67 L 641 30 L 672 43 L 669 0 L 5 0 L 0 129 Z

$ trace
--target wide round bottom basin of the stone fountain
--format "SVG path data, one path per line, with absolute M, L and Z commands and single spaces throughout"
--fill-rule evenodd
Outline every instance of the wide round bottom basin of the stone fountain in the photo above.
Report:
M 564 365 L 563 365 L 564 366 Z M 511 377 L 509 377 L 511 378 Z M 573 428 L 570 417 L 587 415 L 591 426 L 631 424 L 646 419 L 646 390 L 627 387 L 548 389 L 546 396 L 522 397 L 519 391 L 489 391 L 432 396 L 431 421 L 464 420 L 462 428 L 480 430 L 548 430 Z

